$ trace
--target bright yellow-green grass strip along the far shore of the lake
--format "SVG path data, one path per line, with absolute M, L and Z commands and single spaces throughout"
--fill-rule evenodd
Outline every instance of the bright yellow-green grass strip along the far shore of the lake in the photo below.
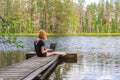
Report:
M 15 33 L 11 36 L 37 36 L 37 33 Z M 47 33 L 47 36 L 120 36 L 120 33 Z

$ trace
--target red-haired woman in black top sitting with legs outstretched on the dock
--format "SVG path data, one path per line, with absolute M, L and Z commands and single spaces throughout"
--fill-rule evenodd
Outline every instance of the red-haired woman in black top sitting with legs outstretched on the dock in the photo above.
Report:
M 38 37 L 34 42 L 35 52 L 38 57 L 46 57 L 50 55 L 67 55 L 66 52 L 51 52 L 51 49 L 45 49 L 45 44 L 43 40 L 47 40 L 46 32 L 44 30 L 40 30 L 38 33 Z

